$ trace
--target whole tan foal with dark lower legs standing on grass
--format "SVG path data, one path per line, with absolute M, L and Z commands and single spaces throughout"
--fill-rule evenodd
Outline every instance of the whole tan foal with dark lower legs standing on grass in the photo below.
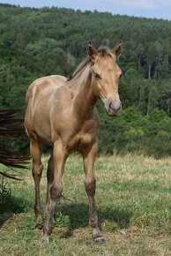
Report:
M 122 43 L 113 50 L 95 49 L 87 44 L 88 56 L 79 64 L 72 78 L 48 76 L 36 79 L 26 93 L 26 134 L 30 138 L 35 183 L 35 221 L 41 222 L 41 147 L 44 143 L 53 146 L 48 161 L 47 221 L 43 228 L 43 242 L 48 243 L 53 230 L 53 215 L 56 201 L 63 192 L 63 169 L 71 151 L 83 156 L 85 191 L 89 199 L 90 224 L 93 239 L 101 244 L 95 207 L 95 177 L 93 163 L 98 149 L 97 132 L 99 117 L 95 103 L 100 99 L 109 116 L 116 116 L 122 108 L 118 94 L 121 70 L 116 57 L 121 54 Z

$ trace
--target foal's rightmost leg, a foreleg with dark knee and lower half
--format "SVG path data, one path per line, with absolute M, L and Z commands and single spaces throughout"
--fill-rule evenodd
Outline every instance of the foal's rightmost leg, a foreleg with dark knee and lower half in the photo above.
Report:
M 88 153 L 83 154 L 85 168 L 85 191 L 89 199 L 90 225 L 93 230 L 93 240 L 97 244 L 103 244 L 105 239 L 100 234 L 98 216 L 95 206 L 95 177 L 93 173 L 93 164 L 97 153 L 98 145 L 95 143 Z

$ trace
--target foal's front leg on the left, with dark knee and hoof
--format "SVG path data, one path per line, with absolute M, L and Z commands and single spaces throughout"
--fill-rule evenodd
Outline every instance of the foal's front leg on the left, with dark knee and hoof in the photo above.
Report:
M 63 148 L 63 145 L 56 143 L 53 150 L 54 179 L 52 184 L 49 186 L 48 203 L 46 207 L 47 221 L 43 227 L 43 243 L 48 243 L 49 236 L 53 230 L 53 217 L 56 201 L 60 199 L 63 192 L 62 177 L 66 158 L 67 154 Z

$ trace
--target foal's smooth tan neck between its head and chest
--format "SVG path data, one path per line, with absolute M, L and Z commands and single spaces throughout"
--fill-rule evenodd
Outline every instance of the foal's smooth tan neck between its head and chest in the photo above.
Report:
M 91 117 L 97 99 L 93 94 L 92 74 L 88 68 L 76 79 L 76 83 L 78 83 L 78 87 L 72 104 L 74 115 L 79 119 Z

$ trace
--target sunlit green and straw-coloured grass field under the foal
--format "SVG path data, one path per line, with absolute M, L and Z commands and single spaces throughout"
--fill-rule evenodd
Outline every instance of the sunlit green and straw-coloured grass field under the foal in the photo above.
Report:
M 96 159 L 95 170 L 105 245 L 93 244 L 82 159 L 71 155 L 49 245 L 41 245 L 42 227 L 33 222 L 31 171 L 22 181 L 1 181 L 0 255 L 171 255 L 171 158 L 105 156 Z M 44 207 L 45 170 L 41 198 Z

